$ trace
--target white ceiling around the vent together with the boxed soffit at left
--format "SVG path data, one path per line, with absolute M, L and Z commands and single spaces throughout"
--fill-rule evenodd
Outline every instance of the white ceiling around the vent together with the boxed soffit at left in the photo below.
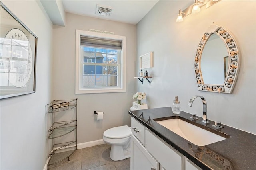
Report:
M 159 0 L 40 0 L 54 25 L 65 25 L 65 12 L 136 25 Z M 96 13 L 97 5 L 110 15 Z M 104 14 L 104 13 L 102 13 Z

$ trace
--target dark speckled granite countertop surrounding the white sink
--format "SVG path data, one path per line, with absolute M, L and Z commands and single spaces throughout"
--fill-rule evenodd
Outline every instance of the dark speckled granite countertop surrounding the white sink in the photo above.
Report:
M 142 112 L 143 119 L 140 117 Z M 201 117 L 192 121 L 189 118 L 191 114 L 181 111 L 176 115 L 171 107 L 129 111 L 129 114 L 203 170 L 256 170 L 256 135 L 226 125 L 222 125 L 224 129 L 216 130 L 212 128 L 214 122 L 207 119 L 210 124 L 199 126 L 230 137 L 210 145 L 197 146 L 153 119 L 176 116 L 192 124 L 200 124 Z M 150 124 L 147 123 L 149 118 Z

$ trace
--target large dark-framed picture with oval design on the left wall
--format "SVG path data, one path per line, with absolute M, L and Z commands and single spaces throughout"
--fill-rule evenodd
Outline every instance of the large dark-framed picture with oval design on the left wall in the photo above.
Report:
M 0 99 L 35 93 L 37 37 L 0 1 Z

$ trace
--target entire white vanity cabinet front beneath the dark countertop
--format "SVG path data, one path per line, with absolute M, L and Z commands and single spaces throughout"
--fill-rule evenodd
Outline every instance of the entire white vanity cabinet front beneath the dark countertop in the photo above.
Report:
M 132 117 L 131 170 L 201 170 Z

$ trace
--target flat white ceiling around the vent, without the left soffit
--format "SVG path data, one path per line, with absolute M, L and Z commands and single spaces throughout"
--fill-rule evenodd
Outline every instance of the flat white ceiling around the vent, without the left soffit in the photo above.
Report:
M 65 12 L 137 24 L 159 0 L 62 0 Z M 96 14 L 97 4 L 112 8 L 110 16 Z

